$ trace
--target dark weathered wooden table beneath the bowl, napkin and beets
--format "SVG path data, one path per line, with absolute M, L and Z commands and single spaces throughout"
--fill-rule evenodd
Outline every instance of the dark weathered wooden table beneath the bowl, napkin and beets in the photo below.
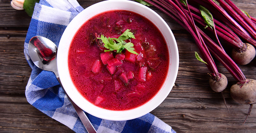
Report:
M 100 0 L 79 0 L 84 8 Z M 240 9 L 256 17 L 255 0 L 232 0 Z M 224 90 L 228 113 L 222 95 L 208 84 L 209 72 L 195 59 L 198 51 L 191 35 L 163 12 L 151 7 L 172 29 L 179 49 L 179 71 L 175 86 L 152 114 L 179 132 L 256 132 L 256 107 L 243 125 L 249 105 L 241 105 L 230 97 L 235 79 L 216 61 L 218 70 L 228 78 Z M 0 132 L 73 132 L 30 105 L 25 97 L 31 68 L 23 53 L 30 17 L 14 10 L 10 0 L 0 0 Z M 225 44 L 224 44 L 225 45 Z M 230 50 L 227 49 L 230 53 Z M 247 78 L 256 79 L 256 59 L 239 66 Z

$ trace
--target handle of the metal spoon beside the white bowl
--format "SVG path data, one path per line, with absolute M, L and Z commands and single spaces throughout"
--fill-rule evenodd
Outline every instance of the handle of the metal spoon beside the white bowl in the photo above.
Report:
M 57 77 L 57 80 L 59 81 L 59 83 L 61 84 L 61 80 L 59 77 Z M 61 87 L 63 88 L 62 84 Z M 64 88 L 63 88 L 64 90 Z M 64 90 L 65 92 L 65 90 Z M 66 93 L 66 92 L 65 92 Z M 67 93 L 66 93 L 67 94 Z M 83 112 L 83 110 L 81 108 L 79 108 L 71 99 L 70 97 L 67 95 L 67 97 L 69 98 L 69 101 L 71 102 L 71 104 L 73 105 L 76 113 L 78 114 L 79 118 L 81 119 L 85 129 L 88 131 L 88 133 L 97 133 L 96 130 L 94 129 L 94 127 L 92 126 L 92 123 L 90 122 L 90 120 L 88 119 L 88 117 L 86 116 L 86 114 Z

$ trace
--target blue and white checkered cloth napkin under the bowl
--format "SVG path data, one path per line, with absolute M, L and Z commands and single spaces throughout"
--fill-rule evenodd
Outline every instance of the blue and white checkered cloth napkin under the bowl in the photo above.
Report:
M 76 0 L 40 0 L 35 5 L 24 45 L 25 57 L 32 68 L 25 92 L 28 102 L 75 132 L 87 131 L 54 73 L 39 69 L 31 61 L 28 43 L 33 36 L 44 36 L 58 46 L 65 28 L 81 11 L 83 7 Z M 175 133 L 172 127 L 150 113 L 128 121 L 109 121 L 90 114 L 87 116 L 99 133 Z

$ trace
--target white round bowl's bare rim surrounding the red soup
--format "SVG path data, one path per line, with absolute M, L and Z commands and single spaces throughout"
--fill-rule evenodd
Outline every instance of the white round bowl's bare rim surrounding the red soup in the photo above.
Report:
M 77 91 L 73 82 L 71 81 L 68 70 L 68 51 L 74 34 L 88 19 L 101 12 L 109 10 L 128 10 L 146 17 L 160 30 L 168 45 L 169 68 L 167 78 L 162 88 L 150 101 L 146 102 L 144 105 L 130 110 L 112 111 L 93 105 Z M 179 57 L 177 44 L 171 29 L 166 24 L 164 19 L 162 19 L 155 11 L 151 10 L 150 8 L 140 3 L 128 0 L 103 1 L 84 9 L 70 22 L 70 24 L 65 29 L 61 37 L 57 53 L 57 68 L 59 76 L 68 96 L 74 101 L 75 104 L 77 104 L 87 113 L 92 114 L 98 118 L 115 121 L 138 118 L 149 113 L 158 105 L 160 105 L 173 88 L 173 84 L 177 77 L 178 65 Z

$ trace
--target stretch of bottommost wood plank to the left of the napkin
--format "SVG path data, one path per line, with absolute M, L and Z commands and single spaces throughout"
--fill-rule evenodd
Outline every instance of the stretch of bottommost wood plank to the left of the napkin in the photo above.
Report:
M 73 132 L 30 105 L 24 95 L 0 95 L 0 132 Z

